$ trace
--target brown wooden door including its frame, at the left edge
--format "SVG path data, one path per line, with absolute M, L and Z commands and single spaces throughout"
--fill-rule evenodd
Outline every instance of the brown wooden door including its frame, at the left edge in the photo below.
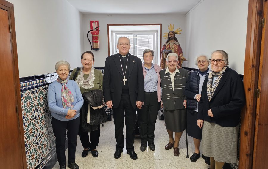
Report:
M 26 169 L 15 40 L 13 4 L 0 0 L 0 168 Z

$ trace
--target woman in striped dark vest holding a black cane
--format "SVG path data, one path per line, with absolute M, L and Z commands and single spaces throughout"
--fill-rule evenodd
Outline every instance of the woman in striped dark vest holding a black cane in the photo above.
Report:
M 166 57 L 168 67 L 160 71 L 162 101 L 166 130 L 169 134 L 169 143 L 166 150 L 173 148 L 174 156 L 179 156 L 179 141 L 183 130 L 186 129 L 186 97 L 184 89 L 188 78 L 187 70 L 177 68 L 179 56 L 169 53 Z M 175 139 L 173 132 L 175 132 Z

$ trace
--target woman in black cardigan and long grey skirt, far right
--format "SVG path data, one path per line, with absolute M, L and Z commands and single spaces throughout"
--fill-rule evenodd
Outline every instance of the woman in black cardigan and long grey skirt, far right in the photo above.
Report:
M 211 70 L 204 80 L 198 102 L 197 125 L 202 128 L 200 148 L 210 157 L 210 169 L 237 162 L 237 139 L 244 86 L 236 71 L 228 67 L 228 54 L 213 51 Z

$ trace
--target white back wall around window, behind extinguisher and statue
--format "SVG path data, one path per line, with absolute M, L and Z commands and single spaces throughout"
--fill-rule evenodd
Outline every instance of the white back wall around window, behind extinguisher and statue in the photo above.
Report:
M 99 21 L 99 43 L 100 50 L 93 51 L 95 56 L 94 67 L 104 67 L 105 59 L 108 56 L 108 35 L 107 35 L 107 24 L 146 24 L 155 23 L 162 24 L 162 44 L 166 42 L 163 38 L 163 34 L 168 32 L 168 26 L 170 23 L 174 24 L 174 30 L 181 28 L 182 34 L 176 35 L 182 49 L 185 48 L 185 37 L 186 37 L 186 27 L 185 27 L 185 15 L 106 15 L 106 14 L 89 14 L 84 15 L 84 46 L 85 50 L 91 50 L 90 44 L 86 37 L 88 31 L 90 30 L 89 22 L 90 20 Z M 92 39 L 91 34 L 89 35 L 90 40 Z M 159 49 L 160 50 L 160 49 Z M 155 56 L 156 57 L 156 56 Z M 157 56 L 160 57 L 160 56 Z

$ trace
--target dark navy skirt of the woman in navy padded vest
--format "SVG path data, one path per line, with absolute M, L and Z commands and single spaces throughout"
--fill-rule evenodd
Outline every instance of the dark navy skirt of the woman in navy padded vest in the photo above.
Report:
M 187 110 L 187 133 L 188 136 L 201 140 L 202 129 L 197 126 L 197 113 Z

